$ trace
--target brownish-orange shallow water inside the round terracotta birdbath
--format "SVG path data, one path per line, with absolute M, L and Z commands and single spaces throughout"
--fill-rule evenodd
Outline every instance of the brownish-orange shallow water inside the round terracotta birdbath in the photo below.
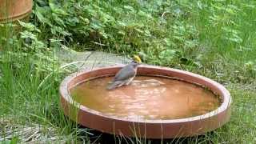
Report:
M 130 86 L 106 90 L 112 78 L 75 86 L 72 97 L 108 116 L 129 119 L 174 119 L 206 114 L 220 105 L 210 90 L 170 78 L 139 76 Z

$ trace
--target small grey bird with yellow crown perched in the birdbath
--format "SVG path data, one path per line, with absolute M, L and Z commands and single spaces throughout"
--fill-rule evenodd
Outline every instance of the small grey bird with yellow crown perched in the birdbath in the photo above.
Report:
M 107 86 L 107 90 L 114 90 L 120 86 L 129 85 L 137 74 L 138 65 L 142 63 L 141 58 L 138 55 L 134 55 L 133 61 L 128 65 L 122 67 L 121 70 L 115 74 L 114 79 Z

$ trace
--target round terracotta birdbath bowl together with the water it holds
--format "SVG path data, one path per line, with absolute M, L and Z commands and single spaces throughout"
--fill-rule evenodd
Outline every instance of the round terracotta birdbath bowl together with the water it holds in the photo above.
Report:
M 140 138 L 205 134 L 230 120 L 230 93 L 218 82 L 183 70 L 142 65 L 129 86 L 106 90 L 121 67 L 65 78 L 60 99 L 66 116 L 104 133 Z

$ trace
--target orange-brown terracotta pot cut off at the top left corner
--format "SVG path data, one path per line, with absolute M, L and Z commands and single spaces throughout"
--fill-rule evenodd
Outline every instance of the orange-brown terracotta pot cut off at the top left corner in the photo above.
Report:
M 32 10 L 32 0 L 0 0 L 0 23 L 25 18 Z

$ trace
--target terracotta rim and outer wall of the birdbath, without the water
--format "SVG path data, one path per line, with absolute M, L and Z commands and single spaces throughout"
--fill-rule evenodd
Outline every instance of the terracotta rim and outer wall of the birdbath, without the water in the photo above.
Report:
M 106 75 L 114 75 L 120 70 L 120 66 L 99 68 L 81 73 L 71 74 L 65 78 L 60 86 L 60 100 L 66 116 L 78 122 L 82 126 L 99 130 L 109 134 L 141 138 L 178 138 L 204 134 L 215 130 L 230 120 L 230 93 L 224 86 L 198 74 L 183 70 L 175 70 L 159 66 L 139 66 L 140 75 L 162 75 L 182 79 L 186 82 L 198 83 L 208 87 L 222 98 L 222 104 L 218 109 L 209 113 L 191 117 L 170 120 L 127 120 L 124 118 L 111 118 L 90 110 L 86 106 L 78 106 L 70 97 L 70 88 L 90 78 Z

